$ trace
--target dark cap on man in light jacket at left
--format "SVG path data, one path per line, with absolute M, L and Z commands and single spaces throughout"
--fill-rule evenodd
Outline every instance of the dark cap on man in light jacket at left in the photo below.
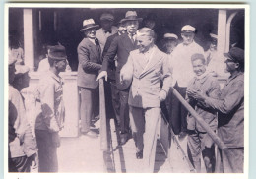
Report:
M 49 48 L 48 57 L 54 60 L 65 60 L 67 59 L 66 49 L 62 45 L 55 45 Z

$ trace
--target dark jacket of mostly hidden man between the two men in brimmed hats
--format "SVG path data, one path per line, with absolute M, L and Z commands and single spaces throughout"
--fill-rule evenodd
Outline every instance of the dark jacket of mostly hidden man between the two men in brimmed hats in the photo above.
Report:
M 107 53 L 107 50 L 109 49 L 113 39 L 116 37 L 116 36 L 119 36 L 118 33 L 114 33 L 113 35 L 109 36 L 107 39 L 106 39 L 106 42 L 105 42 L 105 46 L 104 46 L 104 49 L 103 49 L 103 52 L 102 52 L 102 58 L 104 58 L 105 54 Z M 107 76 L 108 76 L 108 79 L 112 80 L 112 81 L 115 81 L 115 59 L 116 59 L 116 56 L 113 58 L 113 59 L 109 59 L 108 60 L 108 67 L 107 67 Z

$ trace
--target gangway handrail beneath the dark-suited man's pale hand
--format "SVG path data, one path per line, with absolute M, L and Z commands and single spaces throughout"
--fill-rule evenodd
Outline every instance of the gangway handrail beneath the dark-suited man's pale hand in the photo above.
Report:
M 100 149 L 107 151 L 107 125 L 105 113 L 104 81 L 99 79 Z

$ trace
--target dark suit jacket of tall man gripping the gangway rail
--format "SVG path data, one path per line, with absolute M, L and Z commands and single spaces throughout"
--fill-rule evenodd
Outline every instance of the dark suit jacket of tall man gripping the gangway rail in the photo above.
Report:
M 133 44 L 127 33 L 120 36 L 116 36 L 107 53 L 103 57 L 103 64 L 101 71 L 107 71 L 108 64 L 117 55 L 117 67 L 115 72 L 115 81 L 117 89 L 124 90 L 128 89 L 130 84 L 120 83 L 120 71 L 124 64 L 127 62 L 130 51 L 138 48 L 137 41 Z

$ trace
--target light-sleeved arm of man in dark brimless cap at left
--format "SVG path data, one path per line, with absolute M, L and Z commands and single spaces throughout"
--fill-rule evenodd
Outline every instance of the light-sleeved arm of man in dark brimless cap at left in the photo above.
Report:
M 54 83 L 46 82 L 46 80 L 40 82 L 39 92 L 42 116 L 44 118 L 45 125 L 51 133 L 60 131 L 54 112 L 54 91 Z

